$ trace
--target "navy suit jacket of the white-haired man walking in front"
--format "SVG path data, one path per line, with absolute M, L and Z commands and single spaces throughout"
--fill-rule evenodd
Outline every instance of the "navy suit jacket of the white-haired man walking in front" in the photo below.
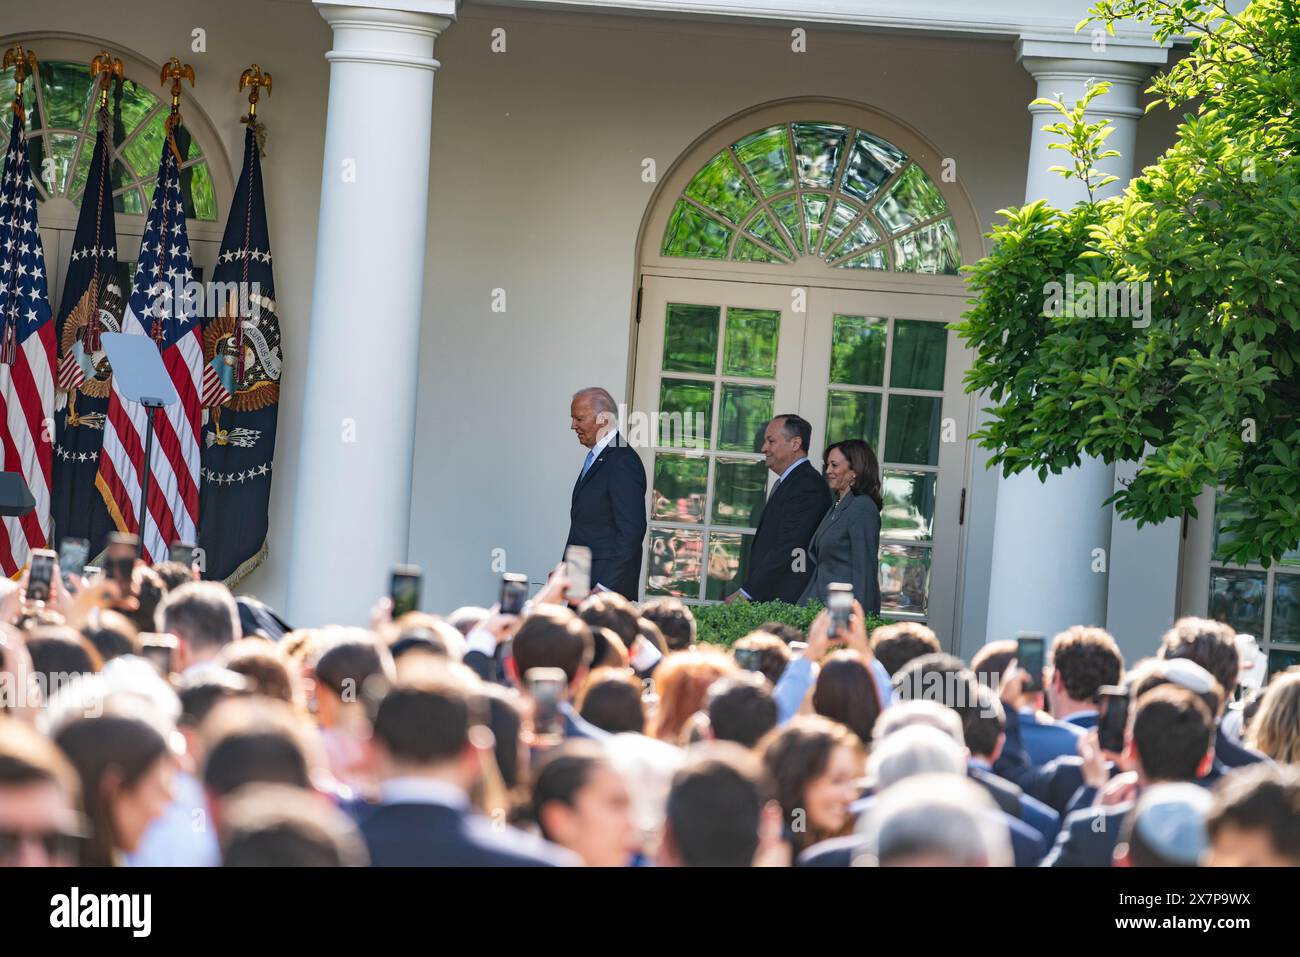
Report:
M 618 433 L 573 485 L 566 546 L 592 549 L 593 588 L 601 584 L 636 601 L 645 536 L 646 469 Z

